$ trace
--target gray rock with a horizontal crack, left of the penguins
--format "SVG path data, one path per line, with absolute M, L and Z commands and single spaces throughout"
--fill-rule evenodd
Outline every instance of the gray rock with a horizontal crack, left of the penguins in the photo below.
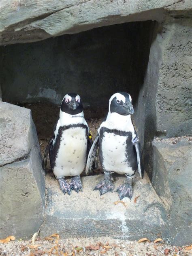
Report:
M 0 237 L 30 237 L 45 208 L 45 177 L 31 111 L 0 103 Z

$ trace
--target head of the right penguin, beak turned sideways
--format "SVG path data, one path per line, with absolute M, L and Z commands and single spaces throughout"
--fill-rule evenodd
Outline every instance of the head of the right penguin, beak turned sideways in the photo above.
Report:
M 127 92 L 117 92 L 109 100 L 109 112 L 119 115 L 132 115 L 134 113 L 132 98 Z

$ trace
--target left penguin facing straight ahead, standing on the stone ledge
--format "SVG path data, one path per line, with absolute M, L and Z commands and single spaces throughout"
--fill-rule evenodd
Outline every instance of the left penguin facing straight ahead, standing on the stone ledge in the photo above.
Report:
M 45 169 L 49 154 L 51 169 L 64 194 L 70 195 L 71 190 L 77 193 L 82 191 L 80 175 L 85 168 L 91 145 L 81 98 L 78 94 L 68 93 L 62 100 L 59 119 L 53 128 L 53 136 L 43 158 Z M 69 183 L 65 179 L 68 176 L 72 177 Z

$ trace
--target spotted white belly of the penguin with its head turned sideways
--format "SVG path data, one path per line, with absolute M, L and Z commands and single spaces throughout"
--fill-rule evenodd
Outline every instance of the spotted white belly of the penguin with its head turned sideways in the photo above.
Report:
M 102 139 L 103 168 L 118 174 L 133 174 L 126 158 L 126 137 L 105 132 Z

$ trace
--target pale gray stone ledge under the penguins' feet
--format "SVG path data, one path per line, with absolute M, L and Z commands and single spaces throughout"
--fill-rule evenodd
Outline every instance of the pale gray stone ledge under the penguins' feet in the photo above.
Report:
M 54 177 L 46 176 L 47 208 L 41 226 L 42 237 L 59 233 L 62 238 L 109 236 L 123 239 L 155 239 L 166 226 L 166 214 L 145 173 L 134 180 L 133 199 L 119 201 L 117 192 L 100 196 L 93 191 L 103 175 L 82 177 L 83 192 L 64 195 Z M 115 187 L 126 180 L 117 177 Z M 115 190 L 114 190 L 115 191 Z M 134 198 L 139 196 L 137 203 Z

